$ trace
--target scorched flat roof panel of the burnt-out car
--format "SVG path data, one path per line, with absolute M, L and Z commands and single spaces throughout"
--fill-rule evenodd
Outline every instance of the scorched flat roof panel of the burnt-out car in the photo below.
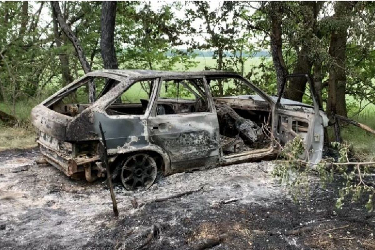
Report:
M 127 78 L 152 78 L 152 77 L 169 77 L 169 76 L 215 76 L 215 75 L 236 75 L 237 73 L 219 70 L 202 70 L 192 72 L 164 71 L 164 70 L 142 70 L 142 69 L 103 69 L 95 70 L 93 73 L 109 73 L 116 76 Z

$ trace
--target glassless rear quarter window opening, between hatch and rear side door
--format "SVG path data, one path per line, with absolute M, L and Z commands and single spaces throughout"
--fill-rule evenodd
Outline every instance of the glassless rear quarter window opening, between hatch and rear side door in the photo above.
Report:
M 105 109 L 105 112 L 108 115 L 144 115 L 153 85 L 153 80 L 134 82 Z

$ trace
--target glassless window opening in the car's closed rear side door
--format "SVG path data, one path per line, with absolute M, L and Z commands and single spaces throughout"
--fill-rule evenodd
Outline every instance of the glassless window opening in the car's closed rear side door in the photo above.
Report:
M 210 112 L 203 79 L 163 80 L 156 102 L 157 115 Z

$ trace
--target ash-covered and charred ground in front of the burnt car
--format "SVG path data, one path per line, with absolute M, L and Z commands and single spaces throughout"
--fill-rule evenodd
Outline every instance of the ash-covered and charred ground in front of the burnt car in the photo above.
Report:
M 116 186 L 117 219 L 104 180 L 71 180 L 38 154 L 0 153 L 0 249 L 375 249 L 364 201 L 335 209 L 341 180 L 296 204 L 271 162 L 184 172 L 146 192 Z

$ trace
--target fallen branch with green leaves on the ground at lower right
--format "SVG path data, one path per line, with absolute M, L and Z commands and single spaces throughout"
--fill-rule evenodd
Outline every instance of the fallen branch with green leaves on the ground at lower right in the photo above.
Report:
M 304 159 L 308 158 L 308 151 L 300 136 L 287 142 L 284 147 L 278 145 L 279 156 L 283 159 L 276 161 L 272 174 L 280 183 L 287 184 L 294 201 L 309 197 L 310 183 L 316 177 L 315 174 L 318 175 L 323 187 L 332 182 L 336 176 L 344 180 L 343 186 L 339 188 L 336 208 L 341 209 L 345 200 L 357 202 L 365 197 L 368 199 L 365 204 L 366 209 L 373 210 L 375 187 L 367 177 L 371 177 L 374 173 L 375 162 L 350 162 L 347 143 L 332 142 L 332 148 L 338 152 L 337 162 L 327 158 L 320 163 L 312 163 Z

